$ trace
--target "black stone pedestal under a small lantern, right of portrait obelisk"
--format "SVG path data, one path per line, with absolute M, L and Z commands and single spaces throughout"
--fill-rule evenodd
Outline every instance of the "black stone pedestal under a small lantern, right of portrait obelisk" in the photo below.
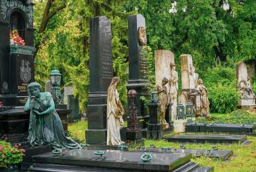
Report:
M 160 124 L 161 103 L 149 103 L 149 125 L 147 126 L 147 138 L 159 140 L 163 137 L 163 126 Z

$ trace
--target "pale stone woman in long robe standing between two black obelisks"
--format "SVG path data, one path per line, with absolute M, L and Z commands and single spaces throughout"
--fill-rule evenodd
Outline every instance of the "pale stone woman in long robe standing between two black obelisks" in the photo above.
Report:
M 113 77 L 107 90 L 107 145 L 120 145 L 120 126 L 124 124 L 122 120 L 125 110 L 119 99 L 118 90 L 116 89 L 120 78 Z

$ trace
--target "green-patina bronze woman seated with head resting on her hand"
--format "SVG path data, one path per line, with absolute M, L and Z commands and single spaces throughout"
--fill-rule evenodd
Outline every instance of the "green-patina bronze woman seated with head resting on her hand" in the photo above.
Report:
M 80 144 L 65 136 L 51 94 L 40 92 L 40 89 L 39 83 L 28 85 L 28 100 L 24 107 L 25 111 L 30 111 L 28 141 L 31 146 L 50 144 L 53 149 L 81 149 Z

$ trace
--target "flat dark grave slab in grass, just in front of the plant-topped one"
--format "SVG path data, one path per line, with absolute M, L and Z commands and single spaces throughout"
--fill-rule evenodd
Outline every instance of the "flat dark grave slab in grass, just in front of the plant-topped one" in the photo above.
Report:
M 234 143 L 244 142 L 246 136 L 225 136 L 225 135 L 176 135 L 166 137 L 168 142 L 201 142 L 201 143 Z

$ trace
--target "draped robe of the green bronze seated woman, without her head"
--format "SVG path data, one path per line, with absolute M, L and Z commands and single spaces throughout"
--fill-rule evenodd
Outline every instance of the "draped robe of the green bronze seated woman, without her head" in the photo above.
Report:
M 34 98 L 30 102 L 30 121 L 28 128 L 28 140 L 33 147 L 51 144 L 53 149 L 80 149 L 73 139 L 64 134 L 62 121 L 55 109 L 49 114 L 38 115 L 33 110 L 39 112 L 46 111 L 51 106 L 52 96 L 50 93 L 44 93 L 44 100 Z

